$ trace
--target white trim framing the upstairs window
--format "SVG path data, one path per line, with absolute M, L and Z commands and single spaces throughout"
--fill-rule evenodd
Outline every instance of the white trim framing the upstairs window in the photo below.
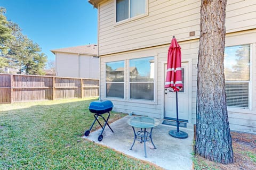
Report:
M 137 16 L 134 16 L 134 17 L 130 18 L 130 0 L 129 0 L 129 11 L 128 11 L 129 18 L 116 22 L 116 0 L 114 0 L 114 11 L 115 11 L 115 17 L 114 17 L 115 25 L 114 26 L 121 25 L 121 24 L 124 24 L 124 23 L 127 23 L 127 22 L 138 20 L 138 19 L 143 18 L 145 16 L 148 16 L 148 0 L 146 0 L 145 3 L 146 3 L 145 14 L 140 14 L 140 15 L 137 15 Z

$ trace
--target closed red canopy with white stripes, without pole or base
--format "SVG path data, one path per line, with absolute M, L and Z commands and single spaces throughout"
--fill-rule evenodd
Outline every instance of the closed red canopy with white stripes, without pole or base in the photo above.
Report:
M 182 72 L 181 72 L 181 50 L 176 38 L 172 39 L 167 56 L 167 73 L 165 88 L 172 88 L 172 91 L 182 89 Z

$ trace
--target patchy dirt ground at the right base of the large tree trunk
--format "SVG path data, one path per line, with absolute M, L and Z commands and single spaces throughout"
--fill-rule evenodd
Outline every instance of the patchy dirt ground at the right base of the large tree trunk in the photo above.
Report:
M 231 132 L 234 164 L 220 164 L 195 156 L 195 169 L 256 169 L 256 134 Z

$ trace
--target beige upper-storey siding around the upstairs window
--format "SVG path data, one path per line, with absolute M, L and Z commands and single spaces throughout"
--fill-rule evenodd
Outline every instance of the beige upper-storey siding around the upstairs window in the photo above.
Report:
M 148 16 L 115 23 L 114 0 L 99 5 L 99 55 L 169 44 L 199 37 L 201 1 L 149 0 Z M 256 1 L 228 1 L 226 30 L 241 31 L 256 27 Z M 189 37 L 189 32 L 195 36 Z

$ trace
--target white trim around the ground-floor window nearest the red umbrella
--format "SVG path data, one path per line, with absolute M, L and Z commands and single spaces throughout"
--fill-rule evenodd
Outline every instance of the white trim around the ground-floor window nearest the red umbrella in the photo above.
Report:
M 129 71 L 129 73 L 128 73 L 128 76 L 127 76 L 127 84 L 128 84 L 128 86 L 127 86 L 127 91 L 128 91 L 128 93 L 127 93 L 127 97 L 128 97 L 128 99 L 127 99 L 127 101 L 129 101 L 129 102 L 134 102 L 134 103 L 142 103 L 142 104 L 157 104 L 157 60 L 156 60 L 156 56 L 144 56 L 144 57 L 138 57 L 138 58 L 147 58 L 147 57 L 154 57 L 154 62 L 155 62 L 155 64 L 154 64 L 154 99 L 153 100 L 143 100 L 143 99 L 131 99 L 131 97 L 130 97 L 130 84 L 132 83 L 132 82 L 130 82 L 130 71 Z M 129 67 L 129 69 L 128 70 L 130 70 L 130 60 L 133 60 L 133 59 L 137 59 L 137 58 L 131 58 L 131 59 L 129 59 L 129 60 L 127 60 L 128 61 L 128 63 L 127 63 L 127 67 Z M 147 81 L 148 82 L 148 81 Z M 147 83 L 146 81 L 145 82 L 143 82 L 143 83 Z M 139 83 L 139 82 L 138 82 Z

